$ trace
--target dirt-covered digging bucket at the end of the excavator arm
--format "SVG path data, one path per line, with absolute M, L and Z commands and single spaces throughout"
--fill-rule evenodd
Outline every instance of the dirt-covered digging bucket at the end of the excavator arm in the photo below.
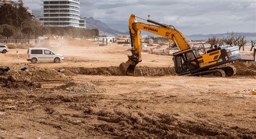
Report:
M 119 66 L 119 70 L 123 73 L 123 75 L 134 76 L 134 70 L 137 64 L 135 64 L 130 59 L 126 62 L 122 62 Z

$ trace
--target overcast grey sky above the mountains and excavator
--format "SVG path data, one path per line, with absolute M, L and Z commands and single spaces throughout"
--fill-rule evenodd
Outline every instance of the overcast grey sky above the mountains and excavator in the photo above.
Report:
M 40 10 L 40 0 L 24 0 Z M 80 0 L 80 15 L 127 31 L 131 14 L 173 25 L 184 34 L 256 32 L 255 0 Z M 144 22 L 142 20 L 138 20 Z

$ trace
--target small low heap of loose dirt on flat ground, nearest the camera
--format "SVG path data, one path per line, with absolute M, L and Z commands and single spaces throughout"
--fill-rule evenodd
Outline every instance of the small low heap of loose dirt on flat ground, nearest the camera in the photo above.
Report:
M 63 90 L 68 92 L 76 93 L 103 93 L 105 92 L 104 88 L 100 88 L 91 82 L 69 82 L 68 84 L 58 86 L 54 88 L 56 90 Z

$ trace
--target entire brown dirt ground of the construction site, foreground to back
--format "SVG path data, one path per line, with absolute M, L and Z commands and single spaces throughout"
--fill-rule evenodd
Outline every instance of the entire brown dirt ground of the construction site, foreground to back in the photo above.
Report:
M 0 138 L 256 138 L 255 64 L 234 64 L 230 78 L 180 77 L 171 56 L 143 53 L 137 76 L 124 77 L 129 46 L 63 47 L 51 47 L 60 64 L 0 54 L 11 68 L 0 75 Z

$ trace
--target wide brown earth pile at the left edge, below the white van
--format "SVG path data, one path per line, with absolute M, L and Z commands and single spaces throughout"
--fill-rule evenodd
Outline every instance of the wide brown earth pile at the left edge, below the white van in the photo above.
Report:
M 68 80 L 68 78 L 55 70 L 46 68 L 28 67 L 22 71 L 11 67 L 9 72 L 0 76 L 0 86 L 6 88 L 41 88 L 42 82 Z

